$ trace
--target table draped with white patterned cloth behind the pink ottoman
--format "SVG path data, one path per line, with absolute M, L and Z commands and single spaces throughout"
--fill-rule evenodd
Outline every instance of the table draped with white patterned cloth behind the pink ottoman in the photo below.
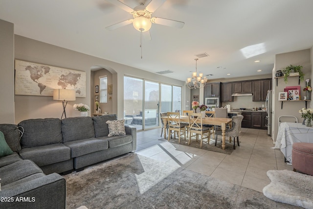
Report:
M 273 148 L 280 149 L 289 163 L 292 163 L 292 144 L 295 142 L 313 143 L 313 127 L 301 123 L 282 122 Z

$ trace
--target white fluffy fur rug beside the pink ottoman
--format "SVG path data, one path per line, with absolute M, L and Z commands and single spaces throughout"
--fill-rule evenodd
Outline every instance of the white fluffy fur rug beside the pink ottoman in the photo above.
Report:
M 291 170 L 268 170 L 271 183 L 263 194 L 271 200 L 313 209 L 313 176 Z

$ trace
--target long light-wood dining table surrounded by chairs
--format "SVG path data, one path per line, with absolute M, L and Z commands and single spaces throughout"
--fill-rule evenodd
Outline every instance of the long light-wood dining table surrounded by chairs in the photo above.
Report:
M 166 124 L 167 124 L 167 116 L 161 117 L 164 124 L 164 139 L 166 139 Z M 180 122 L 189 123 L 189 116 L 179 116 L 177 118 L 172 118 L 174 120 L 180 120 Z M 217 125 L 222 127 L 222 149 L 225 149 L 225 130 L 226 126 L 232 123 L 231 118 L 224 117 L 204 117 L 202 118 L 202 123 L 207 125 Z

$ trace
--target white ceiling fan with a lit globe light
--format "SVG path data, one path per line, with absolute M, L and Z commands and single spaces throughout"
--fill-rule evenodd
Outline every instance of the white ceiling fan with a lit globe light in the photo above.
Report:
M 134 17 L 134 19 L 126 20 L 120 23 L 115 23 L 106 27 L 106 29 L 108 30 L 114 30 L 119 27 L 133 23 L 134 28 L 136 30 L 141 31 L 141 32 L 148 32 L 150 36 L 149 30 L 151 28 L 152 23 L 171 26 L 171 27 L 177 27 L 177 28 L 182 28 L 185 24 L 180 21 L 152 17 L 152 13 L 155 12 L 156 9 L 160 7 L 164 3 L 165 0 L 151 0 L 147 6 L 145 6 L 144 2 L 141 2 L 140 5 L 136 6 L 134 9 L 119 0 L 106 0 L 106 1 L 129 12 Z

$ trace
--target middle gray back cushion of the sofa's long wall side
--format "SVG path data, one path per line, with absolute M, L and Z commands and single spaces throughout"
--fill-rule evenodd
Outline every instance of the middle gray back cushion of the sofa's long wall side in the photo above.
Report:
M 62 119 L 63 142 L 94 138 L 92 118 L 68 117 Z

